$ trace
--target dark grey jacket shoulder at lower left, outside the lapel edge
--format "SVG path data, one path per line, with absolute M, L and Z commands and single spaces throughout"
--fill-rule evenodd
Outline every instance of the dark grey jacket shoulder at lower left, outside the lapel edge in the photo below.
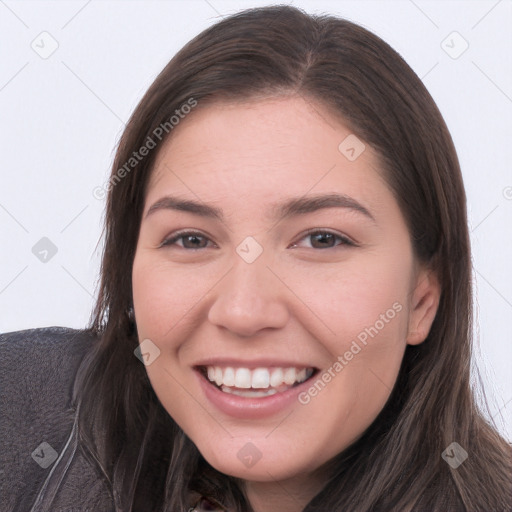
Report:
M 76 372 L 96 338 L 65 327 L 0 334 L 0 494 L 30 502 L 73 426 Z

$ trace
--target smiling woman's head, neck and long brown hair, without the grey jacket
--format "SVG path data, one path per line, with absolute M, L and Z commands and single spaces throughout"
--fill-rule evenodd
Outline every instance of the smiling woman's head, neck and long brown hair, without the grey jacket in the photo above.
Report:
M 118 511 L 510 510 L 470 262 L 452 140 L 394 50 L 292 7 L 224 19 L 120 141 L 97 340 L 32 510 L 77 453 Z

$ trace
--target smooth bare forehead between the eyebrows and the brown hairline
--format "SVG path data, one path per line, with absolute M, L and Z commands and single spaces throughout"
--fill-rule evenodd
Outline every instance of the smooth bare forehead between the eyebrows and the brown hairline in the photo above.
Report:
M 300 96 L 199 103 L 161 148 L 147 198 L 172 191 L 261 203 L 335 190 L 364 200 L 386 185 L 377 155 L 354 137 L 326 108 Z M 343 153 L 346 140 L 357 152 L 364 147 L 356 159 Z

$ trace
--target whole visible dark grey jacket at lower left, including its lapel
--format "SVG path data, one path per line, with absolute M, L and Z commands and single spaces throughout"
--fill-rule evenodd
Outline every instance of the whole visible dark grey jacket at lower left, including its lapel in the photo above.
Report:
M 93 338 L 48 327 L 0 334 L 0 511 L 112 512 L 79 446 L 71 393 Z

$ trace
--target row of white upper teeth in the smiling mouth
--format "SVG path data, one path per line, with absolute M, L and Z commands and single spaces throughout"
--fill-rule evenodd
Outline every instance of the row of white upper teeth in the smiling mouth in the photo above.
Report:
M 279 387 L 283 384 L 291 386 L 296 382 L 304 382 L 311 377 L 312 368 L 233 368 L 232 366 L 207 366 L 208 380 L 218 386 L 237 388 L 265 389 Z

